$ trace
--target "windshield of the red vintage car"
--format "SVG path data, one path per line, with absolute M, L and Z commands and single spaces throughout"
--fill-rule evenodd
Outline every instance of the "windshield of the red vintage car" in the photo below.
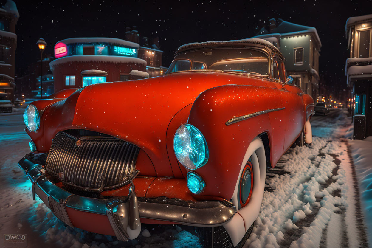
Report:
M 212 48 L 176 56 L 166 74 L 177 71 L 218 70 L 252 75 L 269 74 L 269 57 L 249 48 Z

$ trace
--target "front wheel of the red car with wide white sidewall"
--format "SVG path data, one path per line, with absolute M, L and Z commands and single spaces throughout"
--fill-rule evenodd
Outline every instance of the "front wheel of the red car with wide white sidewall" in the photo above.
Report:
M 240 223 L 244 222 L 245 226 L 236 225 L 234 218 L 232 218 L 224 226 L 214 228 L 195 227 L 199 243 L 203 248 L 240 248 L 244 245 L 253 230 L 254 220 L 257 219 L 260 212 L 265 178 L 266 157 L 264 145 L 262 140 L 256 137 L 248 146 L 243 158 L 232 196 L 232 202 L 238 212 L 235 215 L 238 218 L 243 218 Z M 228 228 L 225 229 L 225 226 L 228 226 Z M 234 238 L 235 246 L 230 236 L 236 236 L 237 232 L 235 232 L 234 228 L 238 228 L 236 230 L 241 233 L 239 239 Z M 229 233 L 227 229 L 230 230 Z

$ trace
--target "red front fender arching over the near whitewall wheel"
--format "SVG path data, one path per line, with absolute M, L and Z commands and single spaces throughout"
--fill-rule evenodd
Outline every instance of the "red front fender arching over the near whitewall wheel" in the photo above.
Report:
M 275 88 L 225 85 L 202 92 L 192 105 L 189 123 L 198 128 L 206 139 L 208 162 L 195 170 L 205 180 L 205 190 L 196 195 L 218 196 L 230 200 L 250 142 L 267 132 L 272 144 L 272 128 L 268 113 L 227 125 L 233 117 L 275 109 L 270 98 L 279 97 Z M 279 103 L 280 104 L 280 103 Z M 282 147 L 270 147 L 280 152 Z M 189 170 L 187 170 L 189 171 Z

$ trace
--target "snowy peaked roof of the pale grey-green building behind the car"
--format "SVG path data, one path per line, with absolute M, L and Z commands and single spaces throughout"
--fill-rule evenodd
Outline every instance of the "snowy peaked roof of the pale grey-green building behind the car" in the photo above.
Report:
M 257 35 L 257 36 L 254 36 L 253 38 L 267 38 L 269 36 L 280 38 L 282 36 L 295 36 L 295 35 L 303 35 L 306 33 L 314 34 L 315 39 L 317 39 L 319 45 L 322 46 L 322 43 L 320 41 L 316 28 L 299 25 L 299 24 L 295 24 L 292 22 L 286 22 L 286 21 L 282 21 L 276 28 L 272 30 L 271 33 Z

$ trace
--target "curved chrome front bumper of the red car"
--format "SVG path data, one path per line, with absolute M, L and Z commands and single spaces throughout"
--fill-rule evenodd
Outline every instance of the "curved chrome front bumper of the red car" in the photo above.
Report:
M 71 227 L 73 225 L 66 212 L 66 207 L 107 215 L 107 206 L 112 202 L 117 202 L 118 199 L 125 202 L 128 198 L 125 196 L 98 199 L 72 194 L 49 181 L 41 165 L 35 164 L 29 158 L 29 155 L 26 155 L 18 162 L 18 165 L 32 182 L 33 199 L 35 200 L 35 194 L 37 194 L 57 218 Z M 229 202 L 191 202 L 166 197 L 138 197 L 138 212 L 140 218 L 176 222 L 182 225 L 212 227 L 221 226 L 231 219 L 236 213 L 236 208 Z

